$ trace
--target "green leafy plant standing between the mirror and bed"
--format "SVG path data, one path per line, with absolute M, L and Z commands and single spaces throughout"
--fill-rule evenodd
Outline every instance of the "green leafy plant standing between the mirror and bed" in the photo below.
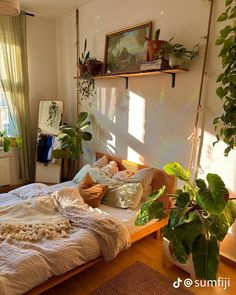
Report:
M 53 150 L 52 156 L 54 158 L 77 160 L 78 155 L 83 153 L 82 141 L 92 139 L 90 132 L 83 131 L 90 126 L 90 121 L 86 121 L 87 117 L 87 112 L 81 112 L 75 126 L 63 125 L 60 127 L 58 140 L 61 142 L 61 149 Z

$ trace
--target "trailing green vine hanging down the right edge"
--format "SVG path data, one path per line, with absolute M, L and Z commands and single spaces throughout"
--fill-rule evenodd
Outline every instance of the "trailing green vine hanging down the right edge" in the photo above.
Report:
M 226 0 L 226 10 L 218 17 L 218 22 L 227 22 L 216 45 L 222 45 L 219 57 L 222 59 L 224 72 L 219 75 L 217 82 L 221 85 L 217 88 L 216 94 L 223 102 L 223 113 L 214 119 L 213 124 L 216 135 L 216 144 L 222 139 L 227 147 L 225 156 L 236 147 L 236 1 Z

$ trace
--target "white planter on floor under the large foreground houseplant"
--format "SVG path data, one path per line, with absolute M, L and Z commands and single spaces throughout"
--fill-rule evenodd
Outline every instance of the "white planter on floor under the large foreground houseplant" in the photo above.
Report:
M 182 263 L 178 262 L 175 259 L 175 257 L 173 256 L 173 253 L 171 251 L 170 241 L 167 240 L 166 238 L 163 238 L 163 254 L 162 255 L 163 255 L 163 258 L 162 258 L 163 266 L 165 266 L 167 264 L 167 262 L 170 262 L 170 263 L 178 266 L 179 268 L 185 270 L 186 272 L 188 272 L 190 274 L 192 280 L 196 279 L 192 255 L 189 255 L 189 259 L 188 259 L 187 263 L 182 264 Z

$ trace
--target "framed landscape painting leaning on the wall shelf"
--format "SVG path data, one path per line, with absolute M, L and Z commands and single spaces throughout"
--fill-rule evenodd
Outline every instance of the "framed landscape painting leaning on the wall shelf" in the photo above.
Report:
M 147 40 L 152 22 L 148 21 L 106 35 L 104 73 L 127 73 L 140 70 L 147 61 Z

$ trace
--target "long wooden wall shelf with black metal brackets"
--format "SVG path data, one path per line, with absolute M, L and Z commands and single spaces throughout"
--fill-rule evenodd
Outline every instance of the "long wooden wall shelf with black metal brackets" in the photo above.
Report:
M 168 68 L 168 69 L 160 69 L 160 70 L 149 70 L 149 71 L 142 71 L 142 72 L 127 72 L 127 73 L 115 73 L 115 74 L 102 74 L 94 76 L 94 79 L 112 79 L 112 78 L 125 78 L 126 80 L 126 89 L 128 89 L 128 78 L 129 77 L 145 77 L 145 76 L 155 76 L 160 74 L 169 74 L 172 77 L 171 86 L 175 87 L 175 75 L 177 73 L 187 72 L 188 69 L 175 67 L 175 68 Z

